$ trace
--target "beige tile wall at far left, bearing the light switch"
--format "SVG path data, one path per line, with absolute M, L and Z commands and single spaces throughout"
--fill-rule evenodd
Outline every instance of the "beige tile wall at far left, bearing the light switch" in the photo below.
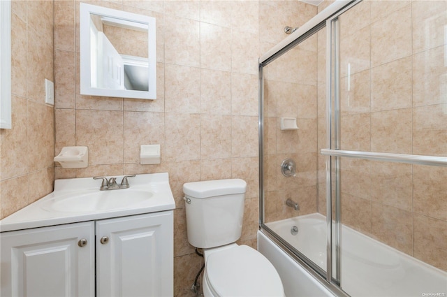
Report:
M 50 193 L 54 181 L 53 2 L 12 1 L 13 129 L 0 130 L 0 219 Z

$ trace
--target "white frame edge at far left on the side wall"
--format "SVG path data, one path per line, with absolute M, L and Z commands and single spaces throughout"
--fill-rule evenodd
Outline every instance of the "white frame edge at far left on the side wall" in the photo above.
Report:
M 11 129 L 11 1 L 0 1 L 0 128 Z

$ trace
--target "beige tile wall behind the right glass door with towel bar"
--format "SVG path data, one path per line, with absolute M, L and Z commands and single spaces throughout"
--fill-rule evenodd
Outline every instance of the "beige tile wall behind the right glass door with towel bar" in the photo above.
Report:
M 340 18 L 342 149 L 447 156 L 446 11 L 447 1 L 362 1 Z M 446 174 L 344 158 L 342 221 L 447 270 Z

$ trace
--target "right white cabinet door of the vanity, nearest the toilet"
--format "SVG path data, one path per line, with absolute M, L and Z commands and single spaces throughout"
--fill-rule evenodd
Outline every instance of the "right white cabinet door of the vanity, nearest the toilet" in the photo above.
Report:
M 172 211 L 96 222 L 96 296 L 173 296 Z

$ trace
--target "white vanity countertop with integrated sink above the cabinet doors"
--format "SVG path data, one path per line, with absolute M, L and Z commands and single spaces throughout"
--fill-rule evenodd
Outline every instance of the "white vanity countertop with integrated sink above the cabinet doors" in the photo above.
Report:
M 108 177 L 110 178 L 110 177 Z M 117 176 L 121 182 L 123 176 Z M 175 209 L 168 173 L 129 178 L 128 189 L 100 191 L 101 180 L 55 180 L 54 191 L 0 220 L 0 231 L 140 215 Z

